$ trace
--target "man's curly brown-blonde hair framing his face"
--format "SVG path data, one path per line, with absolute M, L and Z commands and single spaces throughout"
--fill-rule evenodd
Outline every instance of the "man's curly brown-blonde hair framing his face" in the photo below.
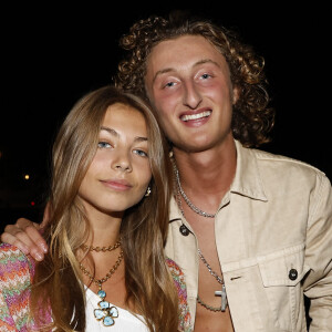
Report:
M 242 43 L 236 32 L 209 20 L 177 11 L 168 19 L 153 15 L 137 21 L 120 41 L 126 55 L 118 64 L 115 84 L 147 100 L 144 80 L 152 49 L 165 40 L 187 34 L 207 39 L 228 63 L 231 82 L 239 92 L 232 113 L 234 137 L 247 147 L 270 142 L 268 134 L 274 125 L 274 110 L 269 107 L 264 60 L 250 45 Z

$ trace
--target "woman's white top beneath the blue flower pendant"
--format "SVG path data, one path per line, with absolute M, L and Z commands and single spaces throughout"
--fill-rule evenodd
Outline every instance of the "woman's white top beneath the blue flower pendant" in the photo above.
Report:
M 104 326 L 103 320 L 97 321 L 94 317 L 94 310 L 100 309 L 98 302 L 102 301 L 101 298 L 86 287 L 85 295 L 86 332 L 149 332 L 142 315 L 138 315 L 139 320 L 129 311 L 116 305 L 118 317 L 114 318 L 114 324 L 112 326 Z

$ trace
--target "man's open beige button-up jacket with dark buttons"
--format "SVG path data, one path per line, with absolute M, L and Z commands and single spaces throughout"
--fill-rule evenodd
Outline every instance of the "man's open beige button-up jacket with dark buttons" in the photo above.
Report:
M 236 332 L 307 331 L 303 293 L 311 299 L 310 331 L 332 331 L 329 179 L 299 160 L 236 146 L 236 176 L 215 220 Z M 195 320 L 197 240 L 174 199 L 169 232 L 166 253 L 186 274 Z

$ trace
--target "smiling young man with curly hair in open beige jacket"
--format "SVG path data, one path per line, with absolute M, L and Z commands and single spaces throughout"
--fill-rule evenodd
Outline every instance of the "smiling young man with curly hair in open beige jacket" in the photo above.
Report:
M 263 61 L 224 28 L 184 18 L 139 21 L 122 45 L 117 84 L 149 100 L 170 144 L 166 252 L 186 274 L 195 331 L 305 331 L 303 294 L 310 331 L 329 331 L 331 184 L 252 148 L 273 126 Z M 27 222 L 2 240 L 34 255 L 42 240 Z

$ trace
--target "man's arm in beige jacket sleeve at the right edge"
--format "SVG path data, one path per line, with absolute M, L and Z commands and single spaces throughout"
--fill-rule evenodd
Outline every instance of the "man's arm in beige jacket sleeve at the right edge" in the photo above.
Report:
M 332 188 L 326 177 L 319 178 L 307 232 L 305 264 L 311 268 L 304 292 L 311 300 L 310 331 L 332 326 Z

